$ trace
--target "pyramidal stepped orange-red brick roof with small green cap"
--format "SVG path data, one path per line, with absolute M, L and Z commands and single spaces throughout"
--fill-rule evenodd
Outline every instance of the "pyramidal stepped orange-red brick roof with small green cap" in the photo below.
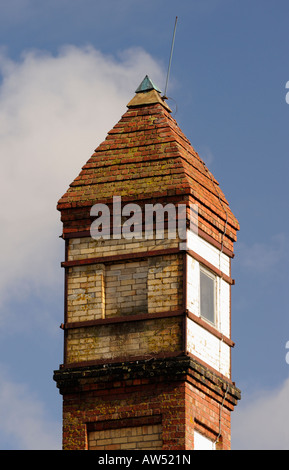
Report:
M 198 205 L 199 230 L 233 251 L 239 223 L 218 182 L 148 77 L 58 201 L 63 233 L 89 230 L 93 204 L 161 198 Z M 86 222 L 83 222 L 83 221 Z M 225 232 L 225 237 L 222 234 Z

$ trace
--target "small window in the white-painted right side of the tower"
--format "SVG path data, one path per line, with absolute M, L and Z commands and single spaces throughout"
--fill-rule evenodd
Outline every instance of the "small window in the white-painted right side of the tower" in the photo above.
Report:
M 215 323 L 216 277 L 213 273 L 200 268 L 200 314 L 211 323 Z

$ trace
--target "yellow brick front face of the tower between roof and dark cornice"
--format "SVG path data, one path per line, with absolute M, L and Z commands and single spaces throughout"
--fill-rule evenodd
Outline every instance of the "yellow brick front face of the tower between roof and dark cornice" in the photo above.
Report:
M 115 360 L 179 352 L 183 330 L 179 317 L 146 318 L 150 314 L 182 308 L 183 259 L 181 254 L 133 258 L 138 250 L 151 249 L 155 240 L 69 240 L 67 259 L 97 258 L 104 262 L 67 268 L 66 323 L 75 324 L 65 335 L 65 363 Z M 108 243 L 108 245 L 107 245 Z M 175 240 L 158 242 L 157 249 L 172 248 Z M 155 247 L 156 248 L 156 247 Z M 109 254 L 109 255 L 108 255 Z M 119 259 L 121 255 L 131 259 Z M 105 256 L 116 256 L 106 262 Z M 142 321 L 85 325 L 79 322 L 122 319 L 142 315 Z

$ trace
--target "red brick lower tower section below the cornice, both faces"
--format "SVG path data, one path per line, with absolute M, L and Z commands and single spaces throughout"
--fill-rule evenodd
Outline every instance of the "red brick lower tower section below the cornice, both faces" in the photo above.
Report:
M 175 360 L 144 362 L 118 367 L 118 380 L 109 368 L 99 368 L 97 379 L 89 371 L 78 376 L 77 389 L 64 394 L 63 448 L 192 450 L 198 431 L 229 450 L 234 390 L 224 399 L 224 384 L 205 369 L 177 378 L 175 367 Z

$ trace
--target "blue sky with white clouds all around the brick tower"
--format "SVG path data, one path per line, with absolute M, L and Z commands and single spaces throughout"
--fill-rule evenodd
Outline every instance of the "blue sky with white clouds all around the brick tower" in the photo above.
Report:
M 232 448 L 288 449 L 286 0 L 0 0 L 0 448 L 61 448 L 56 203 L 148 74 L 241 230 Z M 268 416 L 270 416 L 268 426 Z

